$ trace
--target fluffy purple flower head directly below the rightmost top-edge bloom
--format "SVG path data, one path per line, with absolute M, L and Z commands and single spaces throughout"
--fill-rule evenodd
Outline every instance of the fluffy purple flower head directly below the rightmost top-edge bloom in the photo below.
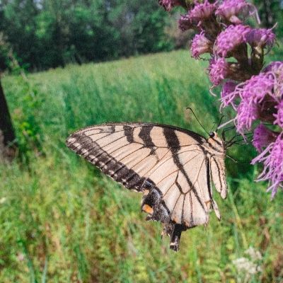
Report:
M 247 25 L 229 25 L 226 30 L 219 33 L 215 42 L 214 52 L 221 57 L 230 56 L 230 52 L 238 45 L 246 42 L 246 35 L 250 27 Z

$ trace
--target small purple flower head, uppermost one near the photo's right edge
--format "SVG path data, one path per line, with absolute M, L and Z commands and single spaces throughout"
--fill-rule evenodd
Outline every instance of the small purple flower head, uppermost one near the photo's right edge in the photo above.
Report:
M 246 34 L 246 41 L 253 47 L 272 47 L 275 42 L 275 34 L 272 29 L 253 28 Z

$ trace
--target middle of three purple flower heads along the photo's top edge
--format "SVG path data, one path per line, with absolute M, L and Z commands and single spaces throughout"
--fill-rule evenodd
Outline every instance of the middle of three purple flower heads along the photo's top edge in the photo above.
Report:
M 197 3 L 189 12 L 190 20 L 193 23 L 199 24 L 213 15 L 216 9 L 216 4 L 210 4 L 208 0 L 204 0 L 203 4 Z

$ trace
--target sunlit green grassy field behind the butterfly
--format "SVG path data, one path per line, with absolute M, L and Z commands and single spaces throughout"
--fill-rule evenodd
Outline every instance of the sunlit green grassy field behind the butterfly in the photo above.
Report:
M 207 129 L 219 120 L 204 66 L 178 51 L 4 77 L 19 153 L 0 164 L 0 282 L 283 282 L 283 196 L 270 200 L 267 184 L 253 182 L 260 168 L 249 165 L 251 146 L 229 151 L 238 163 L 227 160 L 229 197 L 215 193 L 221 221 L 212 213 L 174 253 L 162 225 L 144 221 L 141 195 L 64 145 L 74 130 L 102 122 L 204 135 L 185 110 Z

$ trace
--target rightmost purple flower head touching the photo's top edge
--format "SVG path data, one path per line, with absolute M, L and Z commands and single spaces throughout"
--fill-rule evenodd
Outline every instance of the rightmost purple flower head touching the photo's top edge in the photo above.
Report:
M 241 19 L 238 18 L 239 14 L 245 17 L 255 11 L 255 6 L 247 3 L 246 0 L 224 0 L 215 14 L 226 21 L 239 24 L 242 23 Z

